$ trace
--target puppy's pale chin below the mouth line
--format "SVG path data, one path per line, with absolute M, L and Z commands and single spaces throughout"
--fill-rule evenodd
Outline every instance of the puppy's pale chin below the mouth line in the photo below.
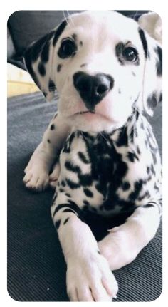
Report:
M 112 118 L 99 113 L 91 113 L 89 111 L 75 113 L 68 117 L 70 125 L 77 130 L 85 132 L 111 132 L 120 128 L 120 123 L 117 123 Z

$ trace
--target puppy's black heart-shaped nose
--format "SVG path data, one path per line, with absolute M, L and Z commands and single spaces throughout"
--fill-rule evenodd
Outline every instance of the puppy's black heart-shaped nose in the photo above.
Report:
M 103 100 L 105 95 L 112 89 L 114 80 L 104 73 L 90 76 L 83 71 L 79 71 L 74 74 L 73 83 L 86 107 L 89 110 L 94 110 L 95 105 Z

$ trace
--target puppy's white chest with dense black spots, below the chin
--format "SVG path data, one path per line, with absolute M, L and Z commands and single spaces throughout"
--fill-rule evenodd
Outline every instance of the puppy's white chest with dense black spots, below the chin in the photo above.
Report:
M 61 152 L 59 182 L 65 182 L 63 189 L 79 207 L 105 215 L 131 212 L 150 197 L 154 176 L 147 174 L 147 163 L 152 163 L 152 155 L 142 162 L 137 145 L 130 154 L 124 134 L 118 147 L 105 133 L 77 131 L 68 138 Z

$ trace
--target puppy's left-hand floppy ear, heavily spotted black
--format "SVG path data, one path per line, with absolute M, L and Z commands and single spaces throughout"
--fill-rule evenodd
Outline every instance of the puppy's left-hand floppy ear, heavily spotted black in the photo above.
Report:
M 56 29 L 32 43 L 23 56 L 28 72 L 48 101 L 53 99 L 56 90 L 56 56 L 54 50 L 66 25 L 67 21 L 64 20 Z

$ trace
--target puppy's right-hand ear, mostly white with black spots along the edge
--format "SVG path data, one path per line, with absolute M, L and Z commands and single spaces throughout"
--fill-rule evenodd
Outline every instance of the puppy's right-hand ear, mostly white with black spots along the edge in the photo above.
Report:
M 143 107 L 152 116 L 157 103 L 162 101 L 162 46 L 141 28 L 139 33 L 145 54 Z

